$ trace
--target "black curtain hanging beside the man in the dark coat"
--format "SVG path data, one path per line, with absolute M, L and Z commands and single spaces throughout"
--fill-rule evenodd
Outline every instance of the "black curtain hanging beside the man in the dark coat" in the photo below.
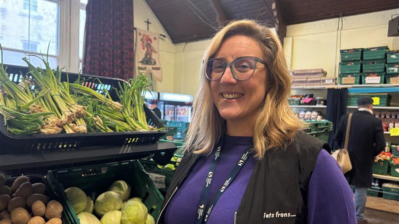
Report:
M 346 114 L 348 103 L 348 89 L 329 89 L 327 91 L 327 120 L 333 122 L 333 131 L 328 136 L 328 144 L 331 149 L 337 149 L 339 146 L 334 141 L 334 134 L 336 127 L 341 119 L 341 116 Z

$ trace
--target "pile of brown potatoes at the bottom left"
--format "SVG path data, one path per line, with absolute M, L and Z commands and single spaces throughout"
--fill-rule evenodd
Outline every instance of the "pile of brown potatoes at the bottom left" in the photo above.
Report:
M 5 183 L 0 174 L 0 224 L 62 224 L 62 205 L 49 201 L 43 183 L 32 184 L 27 176 Z

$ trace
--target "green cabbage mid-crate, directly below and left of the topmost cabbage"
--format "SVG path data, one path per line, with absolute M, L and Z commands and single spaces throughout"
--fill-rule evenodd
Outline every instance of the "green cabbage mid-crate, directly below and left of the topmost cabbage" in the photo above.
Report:
M 97 197 L 94 203 L 94 210 L 98 216 L 104 216 L 107 212 L 120 210 L 122 207 L 122 198 L 118 193 L 107 191 Z

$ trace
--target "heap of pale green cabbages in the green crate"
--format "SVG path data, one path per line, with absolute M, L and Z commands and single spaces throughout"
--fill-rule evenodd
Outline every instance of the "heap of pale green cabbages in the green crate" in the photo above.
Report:
M 155 224 L 142 200 L 138 197 L 129 199 L 130 193 L 128 183 L 116 181 L 94 200 L 93 206 L 93 200 L 81 189 L 71 187 L 65 190 L 80 224 Z

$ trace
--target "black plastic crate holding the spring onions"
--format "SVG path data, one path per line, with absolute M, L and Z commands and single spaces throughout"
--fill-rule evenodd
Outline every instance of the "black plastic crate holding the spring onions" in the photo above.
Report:
M 27 67 L 5 65 L 6 72 L 10 80 L 19 81 L 29 71 Z M 69 82 L 75 82 L 78 74 L 69 73 Z M 115 101 L 118 99 L 116 91 L 119 89 L 118 83 L 125 82 L 121 79 L 107 78 L 92 75 L 80 75 L 84 86 L 103 93 L 108 90 L 110 96 Z M 65 72 L 61 74 L 61 81 L 66 81 Z M 147 122 L 158 128 L 165 127 L 161 120 L 146 105 L 143 106 L 146 113 Z M 1 117 L 1 116 L 0 116 Z M 99 146 L 99 145 L 133 145 L 133 144 L 152 144 L 158 142 L 167 130 L 163 131 L 128 131 L 128 132 L 106 132 L 106 133 L 75 133 L 75 134 L 32 134 L 16 135 L 7 131 L 6 125 L 1 119 L 0 122 L 0 154 L 26 153 L 26 152 L 45 152 L 45 151 L 64 151 L 76 150 L 80 147 Z

